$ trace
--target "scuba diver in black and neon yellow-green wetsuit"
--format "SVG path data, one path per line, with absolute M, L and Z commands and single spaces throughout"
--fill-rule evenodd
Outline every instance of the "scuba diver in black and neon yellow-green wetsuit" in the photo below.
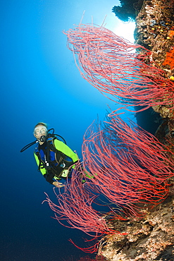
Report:
M 75 168 L 75 163 L 79 162 L 79 158 L 77 154 L 66 145 L 66 141 L 60 135 L 51 134 L 49 131 L 46 123 L 37 123 L 33 133 L 37 140 L 23 147 L 20 152 L 23 152 L 27 147 L 37 143 L 34 156 L 38 171 L 42 173 L 46 181 L 61 188 L 64 185 L 59 182 L 59 180 L 62 178 L 70 178 Z M 58 140 L 56 136 L 61 137 L 64 142 Z

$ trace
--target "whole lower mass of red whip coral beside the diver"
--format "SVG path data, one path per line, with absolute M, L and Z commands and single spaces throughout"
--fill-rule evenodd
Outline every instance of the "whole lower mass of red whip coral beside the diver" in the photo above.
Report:
M 63 193 L 59 189 L 57 195 L 55 191 L 57 205 L 46 198 L 55 219 L 63 226 L 80 229 L 93 239 L 115 233 L 124 235 L 124 231 L 113 228 L 111 217 L 118 220 L 143 217 L 141 210 L 145 205 L 153 207 L 167 197 L 166 180 L 173 176 L 173 154 L 153 135 L 135 123 L 131 125 L 118 115 L 110 115 L 103 130 L 98 128 L 94 132 L 92 127 L 87 130 L 82 145 L 84 162 L 76 165 Z M 86 179 L 85 184 L 82 178 Z M 94 210 L 96 192 L 108 199 L 110 213 L 104 215 Z M 80 249 L 94 253 L 98 245 L 99 241 Z

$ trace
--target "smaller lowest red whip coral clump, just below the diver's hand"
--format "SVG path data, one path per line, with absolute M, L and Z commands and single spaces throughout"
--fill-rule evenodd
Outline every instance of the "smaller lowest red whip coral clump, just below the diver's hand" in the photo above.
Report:
M 96 196 L 85 191 L 82 178 L 80 178 L 81 173 L 82 169 L 78 164 L 76 171 L 73 171 L 70 183 L 67 181 L 64 192 L 61 193 L 59 190 L 59 195 L 57 195 L 54 190 L 58 200 L 57 205 L 51 202 L 48 195 L 45 201 L 49 203 L 49 207 L 55 212 L 55 218 L 63 226 L 80 229 L 93 237 L 101 236 L 104 233 L 116 233 L 108 228 L 106 220 L 101 217 L 101 214 L 92 208 L 92 202 Z M 63 221 L 67 221 L 68 224 Z

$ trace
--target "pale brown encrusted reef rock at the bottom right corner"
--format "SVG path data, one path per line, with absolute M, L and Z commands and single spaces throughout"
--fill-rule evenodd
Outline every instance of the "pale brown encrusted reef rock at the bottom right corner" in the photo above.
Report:
M 103 238 L 99 254 L 112 261 L 174 261 L 174 197 L 139 220 L 113 221 L 121 233 Z

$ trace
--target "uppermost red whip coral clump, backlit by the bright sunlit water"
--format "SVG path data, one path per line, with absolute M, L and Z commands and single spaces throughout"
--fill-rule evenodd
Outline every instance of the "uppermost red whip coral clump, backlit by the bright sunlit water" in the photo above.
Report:
M 165 78 L 165 71 L 153 66 L 149 50 L 98 25 L 80 24 L 64 33 L 82 77 L 101 93 L 131 106 L 173 107 L 174 83 Z

